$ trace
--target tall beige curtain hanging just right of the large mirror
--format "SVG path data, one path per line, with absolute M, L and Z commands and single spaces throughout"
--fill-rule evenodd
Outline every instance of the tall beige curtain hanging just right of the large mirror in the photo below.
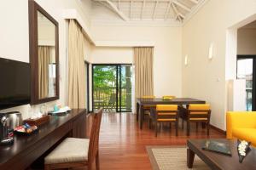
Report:
M 71 108 L 85 108 L 84 34 L 75 20 L 68 26 L 68 101 Z

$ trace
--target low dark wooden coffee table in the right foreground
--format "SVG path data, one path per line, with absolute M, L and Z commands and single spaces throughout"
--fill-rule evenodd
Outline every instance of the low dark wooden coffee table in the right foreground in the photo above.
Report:
M 252 149 L 240 163 L 238 160 L 236 140 L 214 139 L 230 144 L 232 156 L 225 156 L 208 150 L 202 150 L 206 139 L 189 139 L 187 142 L 187 166 L 193 167 L 195 155 L 199 156 L 211 169 L 253 170 L 256 169 L 256 149 Z M 252 148 L 252 147 L 251 147 Z

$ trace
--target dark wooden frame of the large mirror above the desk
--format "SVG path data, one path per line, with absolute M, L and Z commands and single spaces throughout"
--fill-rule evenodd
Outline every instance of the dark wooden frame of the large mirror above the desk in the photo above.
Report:
M 29 55 L 31 64 L 31 105 L 37 105 L 53 100 L 60 99 L 59 88 L 59 24 L 50 16 L 44 8 L 40 7 L 38 3 L 33 0 L 28 1 L 29 11 Z M 39 99 L 39 87 L 38 87 L 38 12 L 44 14 L 44 16 L 55 25 L 55 68 L 56 68 L 56 80 L 55 80 L 55 96 Z

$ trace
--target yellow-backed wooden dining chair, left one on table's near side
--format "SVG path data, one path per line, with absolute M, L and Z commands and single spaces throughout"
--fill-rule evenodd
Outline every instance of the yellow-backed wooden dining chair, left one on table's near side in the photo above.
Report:
M 172 122 L 175 122 L 176 136 L 178 135 L 178 110 L 177 105 L 156 105 L 155 110 L 151 109 L 149 116 L 149 128 L 151 128 L 151 123 L 154 121 L 155 137 L 158 133 L 158 123 L 170 122 L 170 127 Z

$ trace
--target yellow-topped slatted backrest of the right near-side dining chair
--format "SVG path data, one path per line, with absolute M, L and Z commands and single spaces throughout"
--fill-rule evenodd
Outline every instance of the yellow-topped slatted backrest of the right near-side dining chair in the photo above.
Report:
M 191 104 L 189 105 L 188 116 L 193 121 L 209 121 L 211 110 L 209 104 Z

